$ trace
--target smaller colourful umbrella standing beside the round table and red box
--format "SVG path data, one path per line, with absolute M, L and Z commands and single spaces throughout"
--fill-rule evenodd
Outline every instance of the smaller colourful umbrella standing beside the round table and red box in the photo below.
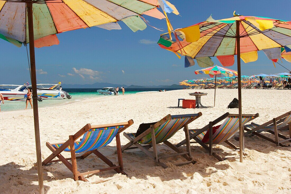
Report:
M 235 70 L 231 70 L 231 69 L 227 69 L 224 67 L 220 67 L 220 66 L 213 66 L 213 67 L 209 67 L 209 68 L 205 68 L 205 69 L 200 69 L 200 70 L 196 70 L 195 74 L 209 74 L 210 77 L 213 77 L 215 75 L 215 86 L 214 86 L 214 106 L 215 106 L 215 96 L 216 96 L 216 77 L 221 76 L 221 74 L 225 75 L 226 77 L 233 77 L 233 76 L 237 76 L 237 71 Z

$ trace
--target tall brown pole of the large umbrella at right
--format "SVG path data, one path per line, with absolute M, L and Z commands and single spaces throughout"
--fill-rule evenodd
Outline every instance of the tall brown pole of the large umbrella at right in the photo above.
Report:
M 237 82 L 238 82 L 238 115 L 239 115 L 239 161 L 243 160 L 244 150 L 244 129 L 242 127 L 242 82 L 240 71 L 240 43 L 239 43 L 239 20 L 236 21 L 236 42 L 237 42 Z

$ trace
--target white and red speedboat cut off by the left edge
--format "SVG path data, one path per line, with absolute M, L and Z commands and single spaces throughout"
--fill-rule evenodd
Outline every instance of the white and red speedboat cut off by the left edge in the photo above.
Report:
M 4 100 L 25 101 L 27 88 L 26 85 L 0 85 L 0 93 Z M 38 101 L 42 101 L 42 98 L 39 96 Z

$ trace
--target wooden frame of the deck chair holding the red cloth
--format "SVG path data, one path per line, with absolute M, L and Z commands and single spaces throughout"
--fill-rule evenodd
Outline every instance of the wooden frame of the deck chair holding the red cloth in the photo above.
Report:
M 190 140 L 194 139 L 196 140 L 195 142 L 190 142 L 190 143 L 198 143 L 200 144 L 204 149 L 206 149 L 209 153 L 210 156 L 214 156 L 217 160 L 219 161 L 223 161 L 225 159 L 228 158 L 239 158 L 239 157 L 221 157 L 216 153 L 222 153 L 222 152 L 235 152 L 235 151 L 239 151 L 239 148 L 235 146 L 235 144 L 231 143 L 230 141 L 226 140 L 224 141 L 226 144 L 228 144 L 230 147 L 232 147 L 233 149 L 229 149 L 229 150 L 213 150 L 213 134 L 212 134 L 212 129 L 213 126 L 216 125 L 217 123 L 219 123 L 220 121 L 226 119 L 227 117 L 238 117 L 238 114 L 230 114 L 229 112 L 223 114 L 221 117 L 215 119 L 214 121 L 210 121 L 208 125 L 206 125 L 205 127 L 196 130 L 196 132 L 194 134 L 190 134 Z M 259 114 L 242 114 L 243 117 L 258 117 Z M 201 140 L 199 140 L 197 138 L 198 135 L 200 135 L 201 133 L 203 133 L 205 130 L 209 130 L 209 146 L 205 143 L 203 143 Z M 176 147 L 180 147 L 181 145 L 186 143 L 186 139 L 181 141 L 180 143 L 178 143 L 176 145 Z M 244 150 L 244 147 L 243 147 Z M 244 153 L 244 155 L 246 155 Z

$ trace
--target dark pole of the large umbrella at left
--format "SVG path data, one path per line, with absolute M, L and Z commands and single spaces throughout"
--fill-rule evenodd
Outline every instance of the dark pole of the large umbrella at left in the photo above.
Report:
M 26 2 L 27 17 L 28 17 L 28 32 L 29 32 L 29 55 L 30 55 L 30 66 L 31 66 L 31 85 L 32 85 L 32 100 L 33 100 L 34 133 L 35 133 L 35 139 L 36 139 L 38 185 L 39 185 L 39 193 L 44 194 L 45 192 L 43 189 L 40 133 L 39 133 L 39 122 L 38 122 L 38 101 L 37 101 L 37 91 L 36 91 L 36 63 L 35 63 L 35 54 L 34 54 L 32 5 L 33 5 L 32 1 Z

